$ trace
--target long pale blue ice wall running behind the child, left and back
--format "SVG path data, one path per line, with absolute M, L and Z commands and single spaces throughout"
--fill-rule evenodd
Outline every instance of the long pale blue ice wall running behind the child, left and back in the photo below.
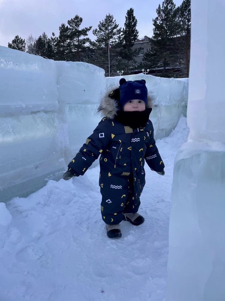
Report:
M 129 79 L 140 77 L 160 104 L 151 114 L 156 138 L 168 136 L 182 104 L 186 114 L 187 83 L 144 74 Z M 119 78 L 112 81 L 119 83 Z M 0 83 L 0 200 L 5 201 L 61 178 L 101 120 L 96 109 L 106 79 L 94 65 L 46 60 L 0 46 Z

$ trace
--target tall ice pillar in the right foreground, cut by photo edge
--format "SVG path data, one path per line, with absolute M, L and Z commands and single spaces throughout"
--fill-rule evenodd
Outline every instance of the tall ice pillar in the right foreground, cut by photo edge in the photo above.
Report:
M 172 187 L 168 301 L 225 300 L 223 0 L 193 0 L 187 123 Z M 219 10 L 218 10 L 219 8 Z

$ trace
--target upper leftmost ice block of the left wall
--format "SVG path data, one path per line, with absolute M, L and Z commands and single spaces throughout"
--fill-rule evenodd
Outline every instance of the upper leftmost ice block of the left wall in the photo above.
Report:
M 0 95 L 0 116 L 56 111 L 54 61 L 0 46 Z

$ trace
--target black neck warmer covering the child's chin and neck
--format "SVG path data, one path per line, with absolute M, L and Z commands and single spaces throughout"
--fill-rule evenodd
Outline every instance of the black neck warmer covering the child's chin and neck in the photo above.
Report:
M 146 109 L 141 112 L 124 112 L 123 110 L 119 110 L 116 112 L 115 119 L 133 129 L 143 128 L 146 126 L 151 112 L 152 109 Z

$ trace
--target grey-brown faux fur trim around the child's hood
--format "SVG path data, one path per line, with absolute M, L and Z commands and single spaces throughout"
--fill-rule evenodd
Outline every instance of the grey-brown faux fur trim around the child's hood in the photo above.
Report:
M 117 88 L 119 87 L 117 86 L 108 88 L 100 99 L 98 113 L 101 113 L 102 116 L 105 116 L 108 119 L 113 119 L 117 115 L 116 112 L 120 110 L 119 100 L 115 100 L 109 97 L 109 94 Z M 157 107 L 157 105 L 155 104 L 155 98 L 152 97 L 151 92 L 149 92 L 147 99 L 147 108 L 150 109 L 154 107 Z

